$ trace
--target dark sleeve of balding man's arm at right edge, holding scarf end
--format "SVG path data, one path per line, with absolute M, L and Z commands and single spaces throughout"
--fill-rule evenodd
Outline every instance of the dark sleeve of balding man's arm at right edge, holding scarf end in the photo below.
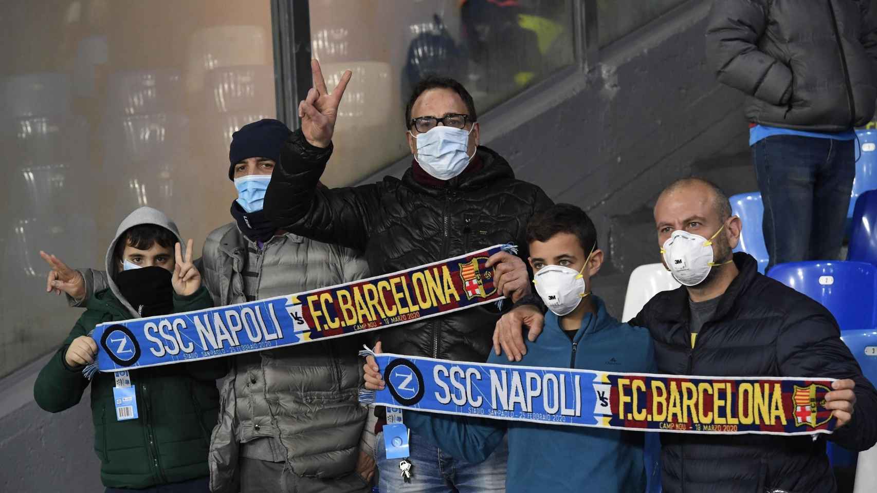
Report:
M 838 324 L 829 313 L 812 314 L 783 327 L 776 345 L 783 377 L 852 378 L 856 404 L 852 420 L 829 440 L 850 450 L 867 450 L 877 442 L 877 391 L 862 375 L 859 363 L 840 340 Z

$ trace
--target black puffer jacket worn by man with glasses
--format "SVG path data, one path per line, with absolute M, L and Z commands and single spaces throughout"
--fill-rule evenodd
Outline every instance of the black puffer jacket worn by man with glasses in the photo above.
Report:
M 505 159 L 486 147 L 477 151 L 481 169 L 445 187 L 424 185 L 409 169 L 402 180 L 317 189 L 331 155 L 332 146 L 308 144 L 301 130 L 291 134 L 268 186 L 265 210 L 298 235 L 364 251 L 373 276 L 498 243 L 516 243 L 526 258 L 527 222 L 552 205 L 539 187 L 515 180 Z M 482 362 L 499 315 L 493 304 L 475 306 L 379 335 L 385 351 Z

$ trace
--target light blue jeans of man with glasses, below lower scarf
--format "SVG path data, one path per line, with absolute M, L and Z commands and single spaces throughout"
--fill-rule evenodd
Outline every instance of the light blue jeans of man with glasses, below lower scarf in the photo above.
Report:
M 472 464 L 454 459 L 433 445 L 430 440 L 411 432 L 411 480 L 404 482 L 399 461 L 387 459 L 383 433 L 378 433 L 374 447 L 381 493 L 504 493 L 505 466 L 509 458 L 509 442 L 503 440 L 487 461 Z M 538 458 L 534 458 L 538 460 Z

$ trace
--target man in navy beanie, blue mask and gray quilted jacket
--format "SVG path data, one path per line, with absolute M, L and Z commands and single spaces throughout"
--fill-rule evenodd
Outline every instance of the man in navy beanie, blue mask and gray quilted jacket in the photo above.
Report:
M 360 252 L 277 229 L 262 212 L 290 133 L 285 124 L 264 119 L 232 135 L 234 222 L 207 236 L 196 262 L 216 306 L 368 277 Z M 65 279 L 60 270 L 49 277 L 82 304 L 104 283 L 96 271 L 82 274 Z M 357 399 L 362 342 L 353 336 L 233 356 L 211 433 L 211 491 L 367 491 L 374 475 L 374 419 L 366 426 L 371 413 Z

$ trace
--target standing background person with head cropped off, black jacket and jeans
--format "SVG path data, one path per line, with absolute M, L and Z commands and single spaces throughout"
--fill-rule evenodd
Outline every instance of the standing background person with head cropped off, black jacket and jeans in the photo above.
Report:
M 856 174 L 854 127 L 877 99 L 873 0 L 714 0 L 707 60 L 745 93 L 774 264 L 835 260 Z

